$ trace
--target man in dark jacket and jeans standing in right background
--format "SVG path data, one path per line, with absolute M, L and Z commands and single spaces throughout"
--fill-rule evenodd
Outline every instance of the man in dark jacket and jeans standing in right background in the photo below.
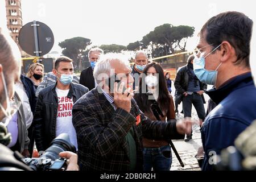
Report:
M 194 56 L 188 57 L 188 64 L 181 67 L 177 72 L 174 86 L 177 94 L 182 95 L 182 106 L 184 117 L 191 117 L 192 104 L 196 109 L 199 117 L 200 126 L 205 118 L 204 109 L 204 90 L 207 89 L 207 84 L 200 82 L 193 71 L 193 59 Z M 176 96 L 177 97 L 177 96 Z M 188 135 L 185 142 L 192 139 L 191 135 Z

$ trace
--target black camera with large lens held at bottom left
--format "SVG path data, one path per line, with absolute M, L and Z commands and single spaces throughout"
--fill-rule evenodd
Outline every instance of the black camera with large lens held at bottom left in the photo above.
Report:
M 67 133 L 60 134 L 53 139 L 50 147 L 39 158 L 24 158 L 23 162 L 34 171 L 64 171 L 67 168 L 67 159 L 59 156 L 59 153 L 64 151 L 76 152 Z

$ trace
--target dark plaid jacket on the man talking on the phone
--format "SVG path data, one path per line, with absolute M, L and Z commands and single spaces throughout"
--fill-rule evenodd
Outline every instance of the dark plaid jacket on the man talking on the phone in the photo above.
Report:
M 79 166 L 82 171 L 128 171 L 126 134 L 134 129 L 137 148 L 136 170 L 143 169 L 142 133 L 150 139 L 180 138 L 176 122 L 150 121 L 132 100 L 131 111 L 117 108 L 98 93 L 97 87 L 84 94 L 72 109 L 72 121 L 77 133 Z M 137 115 L 141 122 L 137 123 Z

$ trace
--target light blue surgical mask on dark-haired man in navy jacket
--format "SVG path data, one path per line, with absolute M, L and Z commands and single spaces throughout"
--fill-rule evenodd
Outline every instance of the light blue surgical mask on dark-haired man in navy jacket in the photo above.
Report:
M 213 51 L 215 51 L 220 46 L 221 46 L 221 44 L 219 46 L 217 46 L 216 48 L 214 48 Z M 210 53 L 212 53 L 212 52 L 210 52 Z M 208 53 L 207 56 L 209 56 L 210 53 Z M 196 77 L 201 82 L 204 82 L 205 84 L 209 84 L 209 85 L 215 85 L 216 84 L 216 80 L 217 80 L 217 74 L 218 74 L 217 70 L 218 70 L 218 68 L 220 67 L 220 65 L 222 63 L 220 63 L 218 65 L 218 67 L 214 71 L 208 71 L 208 70 L 204 69 L 205 58 L 207 56 L 205 56 L 205 57 L 204 56 L 197 57 L 195 55 L 195 59 L 193 60 L 193 69 L 194 69 Z

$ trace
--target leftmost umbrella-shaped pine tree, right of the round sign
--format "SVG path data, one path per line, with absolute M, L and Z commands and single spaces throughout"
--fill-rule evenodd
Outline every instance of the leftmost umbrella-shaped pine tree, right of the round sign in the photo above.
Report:
M 66 39 L 63 42 L 60 42 L 59 46 L 63 48 L 63 55 L 70 57 L 73 60 L 74 66 L 81 71 L 82 60 L 84 59 L 84 52 L 86 47 L 90 44 L 90 39 L 76 37 Z

